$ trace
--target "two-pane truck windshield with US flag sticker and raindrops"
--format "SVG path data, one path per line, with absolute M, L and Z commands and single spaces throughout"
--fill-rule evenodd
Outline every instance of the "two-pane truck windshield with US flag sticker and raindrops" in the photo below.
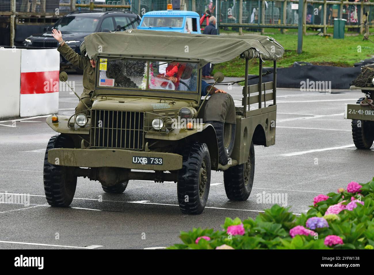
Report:
M 99 58 L 98 88 L 196 92 L 196 63 Z

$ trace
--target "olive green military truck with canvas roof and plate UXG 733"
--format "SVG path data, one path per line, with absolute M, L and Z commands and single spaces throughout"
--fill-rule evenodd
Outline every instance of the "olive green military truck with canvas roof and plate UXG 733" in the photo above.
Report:
M 129 180 L 174 181 L 180 210 L 200 214 L 212 170 L 223 171 L 229 199 L 248 199 L 254 145 L 275 144 L 276 60 L 284 53 L 276 40 L 129 30 L 90 34 L 84 43 L 97 61 L 93 104 L 85 113 L 47 117 L 59 133 L 45 155 L 50 205 L 70 205 L 77 177 L 99 181 L 108 193 L 122 193 Z M 245 62 L 242 107 L 228 94 L 202 98 L 215 89 L 211 83 L 204 91 L 202 67 L 236 56 Z M 248 85 L 252 58 L 260 74 Z M 273 61 L 272 82 L 262 82 L 264 60 Z M 223 78 L 216 73 L 214 82 Z

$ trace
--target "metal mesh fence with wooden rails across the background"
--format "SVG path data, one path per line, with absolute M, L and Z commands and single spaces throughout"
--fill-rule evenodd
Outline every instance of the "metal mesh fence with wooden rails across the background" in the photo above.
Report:
M 90 0 L 0 0 L 0 13 L 9 15 L 12 11 L 15 11 L 23 15 L 43 16 L 48 13 L 49 15 L 61 16 L 71 12 L 74 9 L 73 4 L 76 4 L 75 9 L 77 10 L 89 10 L 89 7 L 79 7 L 79 4 L 89 5 L 90 2 Z M 143 15 L 145 12 L 153 10 L 166 10 L 167 4 L 171 2 L 172 0 L 95 0 L 93 4 L 131 5 L 133 12 Z M 237 33 L 239 27 L 242 27 L 241 30 L 247 33 L 261 31 L 261 34 L 297 34 L 297 31 L 293 28 L 298 25 L 297 0 L 243 0 L 242 7 L 239 3 L 239 0 L 181 0 L 181 9 L 194 10 L 200 16 L 209 11 L 212 15 L 217 16 L 222 33 Z M 369 2 L 364 3 L 364 5 L 361 5 L 361 2 L 342 3 L 328 3 L 325 9 L 324 3 L 306 1 L 304 12 L 306 32 L 324 30 L 324 24 L 326 24 L 327 33 L 332 33 L 335 18 L 347 20 L 347 32 L 362 30 L 364 27 L 359 27 L 359 24 L 366 19 L 370 27 L 373 27 L 373 5 L 367 5 Z M 123 10 L 123 8 L 118 7 L 95 7 L 94 9 L 102 11 Z M 240 9 L 242 10 L 241 21 Z M 365 15 L 366 12 L 368 16 Z M 326 22 L 324 22 L 324 18 L 326 18 Z M 248 26 L 248 24 L 250 25 Z M 203 22 L 202 27 L 205 27 L 205 25 L 206 21 Z

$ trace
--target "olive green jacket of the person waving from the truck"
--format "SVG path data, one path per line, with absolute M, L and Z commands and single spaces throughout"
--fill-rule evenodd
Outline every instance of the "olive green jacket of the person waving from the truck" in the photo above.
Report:
M 80 97 L 90 97 L 90 92 L 95 89 L 95 69 L 92 68 L 90 59 L 77 54 L 66 43 L 58 46 L 57 51 L 71 64 L 83 70 L 83 93 Z

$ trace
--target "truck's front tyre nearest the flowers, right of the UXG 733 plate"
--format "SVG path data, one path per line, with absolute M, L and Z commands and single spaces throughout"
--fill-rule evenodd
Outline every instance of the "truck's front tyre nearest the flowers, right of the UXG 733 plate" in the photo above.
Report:
M 185 214 L 201 214 L 208 201 L 211 178 L 208 146 L 195 142 L 187 146 L 182 155 L 177 183 L 179 207 Z

